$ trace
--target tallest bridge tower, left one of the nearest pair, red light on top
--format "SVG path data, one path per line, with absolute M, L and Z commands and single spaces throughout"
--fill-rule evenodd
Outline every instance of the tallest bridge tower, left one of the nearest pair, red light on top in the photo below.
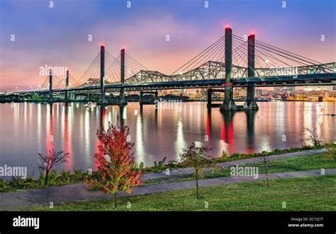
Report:
M 233 69 L 233 30 L 225 27 L 225 99 L 220 105 L 220 111 L 237 110 L 233 100 L 233 86 L 230 84 Z

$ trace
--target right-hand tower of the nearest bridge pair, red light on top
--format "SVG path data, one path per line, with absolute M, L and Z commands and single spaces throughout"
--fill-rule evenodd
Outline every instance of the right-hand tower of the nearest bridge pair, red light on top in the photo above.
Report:
M 254 77 L 254 58 L 255 58 L 255 35 L 252 33 L 247 37 L 247 77 Z M 244 104 L 246 110 L 259 110 L 259 107 L 254 98 L 254 83 L 247 84 L 247 98 Z

